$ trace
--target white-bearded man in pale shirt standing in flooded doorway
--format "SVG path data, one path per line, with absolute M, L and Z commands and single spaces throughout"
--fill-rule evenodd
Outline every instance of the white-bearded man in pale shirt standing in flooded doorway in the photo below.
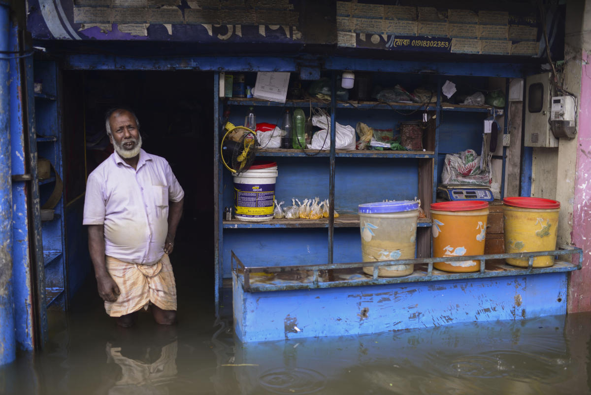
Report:
M 141 149 L 132 111 L 110 110 L 105 127 L 115 152 L 88 176 L 83 220 L 99 295 L 119 326 L 131 326 L 142 307 L 157 323 L 173 324 L 177 294 L 168 254 L 183 188 L 164 158 Z

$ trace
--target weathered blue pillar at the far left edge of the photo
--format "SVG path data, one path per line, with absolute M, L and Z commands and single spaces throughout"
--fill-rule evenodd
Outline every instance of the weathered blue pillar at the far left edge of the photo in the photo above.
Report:
M 0 4 L 0 51 L 9 51 L 9 8 Z M 0 365 L 16 357 L 12 298 L 12 179 L 9 63 L 0 59 Z

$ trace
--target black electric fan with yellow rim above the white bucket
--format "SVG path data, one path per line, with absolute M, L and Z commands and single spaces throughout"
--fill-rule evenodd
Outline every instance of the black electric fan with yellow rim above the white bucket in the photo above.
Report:
M 256 156 L 256 132 L 243 126 L 226 123 L 226 134 L 220 148 L 222 162 L 232 174 L 240 174 L 249 169 Z

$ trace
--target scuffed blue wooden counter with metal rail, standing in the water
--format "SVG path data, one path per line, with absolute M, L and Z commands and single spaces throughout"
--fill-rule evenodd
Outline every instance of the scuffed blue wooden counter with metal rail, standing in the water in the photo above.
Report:
M 547 255 L 577 251 L 548 251 Z M 515 254 L 481 257 L 501 255 Z M 548 268 L 519 268 L 490 259 L 476 273 L 446 273 L 433 269 L 433 260 L 376 263 L 416 262 L 410 276 L 391 278 L 363 274 L 359 267 L 363 263 L 290 269 L 248 268 L 237 260 L 239 267 L 233 270 L 235 333 L 246 343 L 562 315 L 566 313 L 567 274 L 580 268 L 567 261 L 556 261 Z

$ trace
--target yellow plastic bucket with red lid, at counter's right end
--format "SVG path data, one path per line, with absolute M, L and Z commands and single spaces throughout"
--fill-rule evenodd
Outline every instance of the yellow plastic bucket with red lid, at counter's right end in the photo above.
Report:
M 503 199 L 505 252 L 556 250 L 560 202 L 542 198 Z M 528 267 L 528 258 L 506 258 L 509 265 Z M 554 255 L 535 257 L 534 267 L 549 267 Z

